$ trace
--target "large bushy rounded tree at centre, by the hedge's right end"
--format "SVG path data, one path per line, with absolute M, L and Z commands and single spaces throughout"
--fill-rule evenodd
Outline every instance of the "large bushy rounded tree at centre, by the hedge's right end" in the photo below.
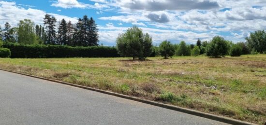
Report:
M 140 60 L 150 56 L 152 38 L 148 33 L 143 34 L 141 28 L 133 26 L 125 33 L 119 34 L 117 38 L 118 53 L 121 56 L 131 56 L 133 60 L 138 57 Z

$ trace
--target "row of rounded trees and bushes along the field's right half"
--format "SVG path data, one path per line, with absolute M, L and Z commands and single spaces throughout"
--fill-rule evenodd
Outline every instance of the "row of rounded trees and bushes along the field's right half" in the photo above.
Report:
M 206 55 L 211 57 L 241 56 L 247 54 L 266 54 L 266 32 L 264 30 L 251 32 L 246 38 L 246 42 L 233 43 L 226 41 L 221 36 L 214 37 L 211 41 L 196 44 L 186 44 L 181 41 L 173 44 L 163 41 L 159 46 L 152 46 L 152 38 L 148 33 L 144 34 L 141 28 L 136 26 L 129 28 L 125 33 L 119 34 L 117 38 L 118 53 L 121 56 L 137 57 L 140 60 L 148 56 L 199 56 Z

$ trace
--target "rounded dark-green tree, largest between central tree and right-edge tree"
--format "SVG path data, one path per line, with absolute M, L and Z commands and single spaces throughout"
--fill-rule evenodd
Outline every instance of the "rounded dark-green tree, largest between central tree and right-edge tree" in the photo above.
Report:
M 216 36 L 207 46 L 207 56 L 221 57 L 228 52 L 227 42 L 220 36 Z

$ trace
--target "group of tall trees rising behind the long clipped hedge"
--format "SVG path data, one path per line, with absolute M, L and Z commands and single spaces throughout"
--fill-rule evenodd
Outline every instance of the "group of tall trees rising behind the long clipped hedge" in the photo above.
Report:
M 43 26 L 35 25 L 30 19 L 20 20 L 14 28 L 6 22 L 3 29 L 0 27 L 0 40 L 20 44 L 98 46 L 99 34 L 95 20 L 87 15 L 73 24 L 65 19 L 57 22 L 54 16 L 45 14 Z

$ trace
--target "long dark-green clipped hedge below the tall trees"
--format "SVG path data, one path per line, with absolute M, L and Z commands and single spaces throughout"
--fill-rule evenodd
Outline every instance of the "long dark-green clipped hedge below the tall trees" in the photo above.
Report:
M 11 58 L 119 57 L 115 47 L 71 47 L 63 45 L 20 45 L 4 43 Z

